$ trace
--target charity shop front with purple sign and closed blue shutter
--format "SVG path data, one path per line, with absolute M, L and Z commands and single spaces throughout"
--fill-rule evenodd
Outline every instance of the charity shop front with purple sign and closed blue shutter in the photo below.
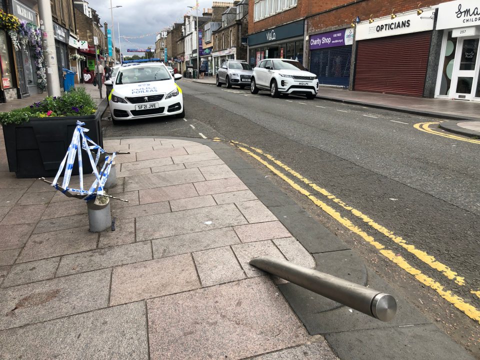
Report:
M 348 87 L 353 29 L 339 29 L 309 36 L 310 72 L 320 85 Z

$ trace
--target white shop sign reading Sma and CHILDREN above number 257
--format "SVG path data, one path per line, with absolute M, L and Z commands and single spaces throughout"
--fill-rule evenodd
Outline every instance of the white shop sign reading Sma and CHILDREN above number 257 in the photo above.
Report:
M 437 30 L 480 25 L 480 3 L 478 0 L 449 1 L 437 6 Z

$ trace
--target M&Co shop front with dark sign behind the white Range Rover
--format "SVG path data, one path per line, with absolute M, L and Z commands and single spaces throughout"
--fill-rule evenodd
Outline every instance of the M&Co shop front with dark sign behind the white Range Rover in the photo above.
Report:
M 249 35 L 249 64 L 256 66 L 264 58 L 294 59 L 303 63 L 303 20 Z

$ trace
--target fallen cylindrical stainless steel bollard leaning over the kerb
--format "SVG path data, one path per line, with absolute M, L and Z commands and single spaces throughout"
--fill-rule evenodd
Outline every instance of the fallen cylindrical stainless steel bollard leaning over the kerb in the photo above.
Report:
M 272 256 L 255 257 L 249 263 L 381 321 L 395 317 L 392 295 Z

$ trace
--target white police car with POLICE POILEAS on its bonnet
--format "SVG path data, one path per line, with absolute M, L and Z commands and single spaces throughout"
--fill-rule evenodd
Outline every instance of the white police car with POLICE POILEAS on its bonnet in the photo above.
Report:
M 108 95 L 113 123 L 157 116 L 184 117 L 183 96 L 175 83 L 181 77 L 171 75 L 159 62 L 120 67 L 110 80 L 113 89 Z

